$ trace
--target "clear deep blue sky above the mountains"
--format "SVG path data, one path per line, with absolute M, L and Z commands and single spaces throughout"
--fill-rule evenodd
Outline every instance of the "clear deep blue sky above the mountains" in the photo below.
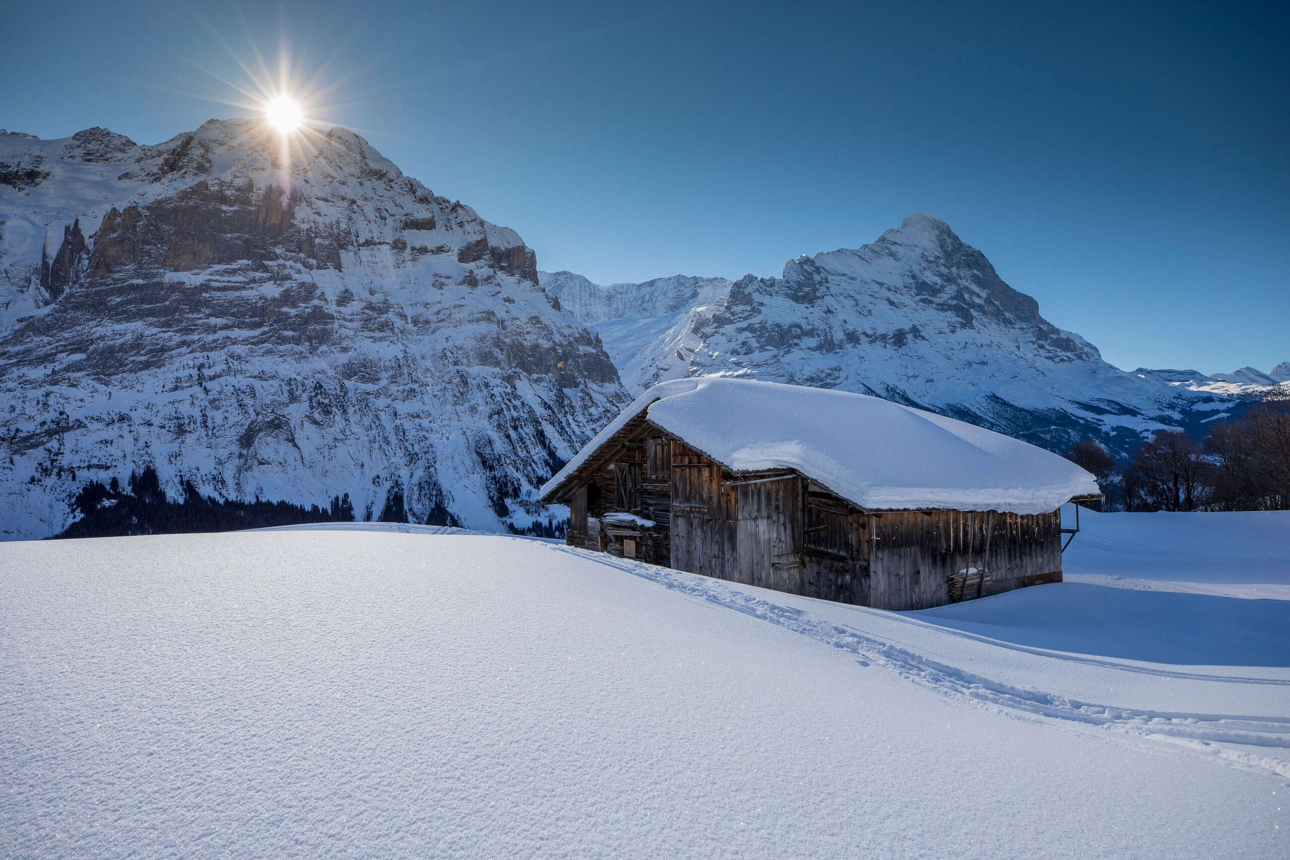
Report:
M 6 4 L 0 126 L 141 143 L 243 66 L 593 281 L 778 275 L 917 210 L 1124 367 L 1290 358 L 1284 3 Z

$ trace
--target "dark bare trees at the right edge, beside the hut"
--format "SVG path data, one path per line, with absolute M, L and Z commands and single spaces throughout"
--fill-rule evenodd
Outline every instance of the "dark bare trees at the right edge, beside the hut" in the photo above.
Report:
M 1112 511 L 1287 511 L 1290 393 L 1215 423 L 1201 442 L 1160 431 L 1124 468 L 1087 438 L 1066 456 L 1098 478 Z

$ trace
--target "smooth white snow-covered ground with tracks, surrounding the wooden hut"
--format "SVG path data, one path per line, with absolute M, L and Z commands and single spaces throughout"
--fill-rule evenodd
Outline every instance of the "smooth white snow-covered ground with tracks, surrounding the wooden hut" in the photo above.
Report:
M 1290 601 L 1201 592 L 1290 587 L 1290 514 L 1134 516 L 904 614 L 408 526 L 0 544 L 0 845 L 1287 856 Z

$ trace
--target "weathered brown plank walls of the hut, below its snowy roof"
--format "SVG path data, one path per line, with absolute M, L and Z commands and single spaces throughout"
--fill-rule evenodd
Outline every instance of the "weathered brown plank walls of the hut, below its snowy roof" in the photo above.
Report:
M 569 495 L 573 545 L 890 610 L 1062 579 L 1057 511 L 864 512 L 796 472 L 733 474 L 644 419 L 604 451 Z M 615 511 L 655 525 L 601 523 Z

